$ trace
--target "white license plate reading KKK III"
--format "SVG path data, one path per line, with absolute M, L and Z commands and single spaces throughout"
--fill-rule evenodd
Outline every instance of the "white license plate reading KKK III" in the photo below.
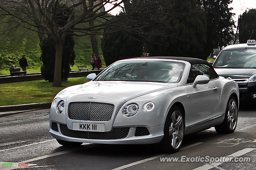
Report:
M 104 132 L 105 131 L 105 124 L 73 122 L 73 130 Z

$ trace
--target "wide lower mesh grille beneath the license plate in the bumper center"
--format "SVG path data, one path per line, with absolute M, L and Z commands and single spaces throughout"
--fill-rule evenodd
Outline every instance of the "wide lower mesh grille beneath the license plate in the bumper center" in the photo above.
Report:
M 67 125 L 60 124 L 60 132 L 67 137 L 74 137 L 80 139 L 124 139 L 128 136 L 130 127 L 117 127 L 109 132 L 88 132 L 88 131 L 74 131 L 68 129 Z

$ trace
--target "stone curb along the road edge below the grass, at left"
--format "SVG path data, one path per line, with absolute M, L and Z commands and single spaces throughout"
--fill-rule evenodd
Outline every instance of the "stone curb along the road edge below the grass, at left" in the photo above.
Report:
M 50 109 L 52 102 L 44 103 L 32 103 L 32 104 L 20 104 L 13 106 L 0 106 L 0 112 L 7 111 L 22 111 L 22 110 L 34 110 L 34 109 Z

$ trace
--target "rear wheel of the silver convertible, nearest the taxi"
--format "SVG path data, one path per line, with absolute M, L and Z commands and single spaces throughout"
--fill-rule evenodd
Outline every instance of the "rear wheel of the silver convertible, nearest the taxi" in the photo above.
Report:
M 238 102 L 234 96 L 230 96 L 226 107 L 225 118 L 222 124 L 215 126 L 218 133 L 233 133 L 236 130 L 238 119 Z

